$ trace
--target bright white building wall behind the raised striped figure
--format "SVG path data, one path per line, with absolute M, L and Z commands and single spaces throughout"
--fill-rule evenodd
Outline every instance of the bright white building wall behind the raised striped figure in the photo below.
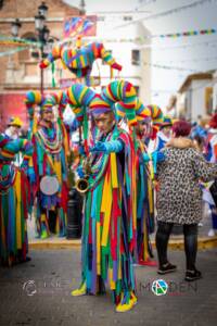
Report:
M 137 24 L 124 26 L 126 22 L 123 17 L 128 14 L 104 14 L 104 21 L 98 22 L 97 37 L 103 42 L 106 50 L 112 50 L 112 54 L 123 66 L 120 73 L 114 71 L 115 77 L 120 77 L 140 88 L 140 98 L 144 104 L 151 102 L 151 67 L 144 62 L 150 62 L 151 50 L 141 48 L 139 37 L 150 35 L 149 30 L 138 22 Z M 133 16 L 133 15 L 132 15 Z M 122 27 L 123 24 L 123 27 Z M 149 43 L 150 40 L 146 40 Z M 131 64 L 131 51 L 140 50 L 140 65 Z M 103 65 L 100 60 L 93 64 L 92 76 L 100 73 L 102 85 L 107 85 L 110 79 L 110 67 Z

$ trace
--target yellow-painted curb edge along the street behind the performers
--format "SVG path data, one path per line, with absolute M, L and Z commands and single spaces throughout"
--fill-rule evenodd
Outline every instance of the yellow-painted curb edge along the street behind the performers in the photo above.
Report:
M 155 241 L 151 241 L 153 248 L 155 249 Z M 217 237 L 200 237 L 197 242 L 199 249 L 212 249 L 217 248 Z M 28 242 L 29 249 L 80 249 L 81 240 L 80 239 L 62 239 L 62 238 L 50 238 L 44 240 L 29 240 Z M 183 249 L 183 239 L 174 238 L 169 240 L 168 243 L 169 249 L 174 250 L 182 250 Z

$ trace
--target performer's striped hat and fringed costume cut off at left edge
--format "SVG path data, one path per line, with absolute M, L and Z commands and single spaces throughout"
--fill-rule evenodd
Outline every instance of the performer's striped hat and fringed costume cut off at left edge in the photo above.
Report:
M 24 161 L 33 146 L 24 139 L 11 140 L 0 135 L 0 261 L 3 265 L 26 261 L 29 184 L 23 168 L 13 161 L 23 152 Z

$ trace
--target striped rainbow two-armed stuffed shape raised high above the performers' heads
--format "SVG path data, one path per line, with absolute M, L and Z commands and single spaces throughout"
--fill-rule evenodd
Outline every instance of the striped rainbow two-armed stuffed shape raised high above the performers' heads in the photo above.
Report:
M 102 59 L 111 68 L 122 70 L 122 66 L 115 61 L 111 53 L 105 50 L 103 43 L 100 42 L 92 42 L 74 49 L 63 45 L 56 45 L 48 58 L 40 63 L 40 67 L 46 68 L 58 59 L 61 59 L 63 66 L 67 67 L 78 78 L 86 77 L 86 84 L 88 84 L 92 64 L 97 59 Z

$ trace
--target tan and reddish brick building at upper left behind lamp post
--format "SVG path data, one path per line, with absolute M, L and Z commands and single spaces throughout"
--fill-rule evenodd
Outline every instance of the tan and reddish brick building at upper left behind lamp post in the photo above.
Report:
M 38 14 L 38 7 L 41 0 L 3 0 L 0 2 L 0 36 L 12 37 L 11 23 L 18 18 L 22 23 L 20 37 L 37 40 L 35 28 L 35 15 Z M 69 7 L 62 0 L 47 0 L 49 8 L 46 25 L 50 29 L 52 38 L 63 38 L 63 22 L 66 17 L 79 15 L 77 8 Z M 34 58 L 38 49 L 28 48 L 24 51 L 5 55 L 5 52 L 13 51 L 14 46 L 1 43 L 0 53 L 0 126 L 4 127 L 5 122 L 12 115 L 18 115 L 26 121 L 26 109 L 23 102 L 25 92 L 29 89 L 40 89 L 40 58 Z M 52 88 L 53 89 L 53 88 Z M 51 71 L 44 71 L 44 90 L 51 90 Z

